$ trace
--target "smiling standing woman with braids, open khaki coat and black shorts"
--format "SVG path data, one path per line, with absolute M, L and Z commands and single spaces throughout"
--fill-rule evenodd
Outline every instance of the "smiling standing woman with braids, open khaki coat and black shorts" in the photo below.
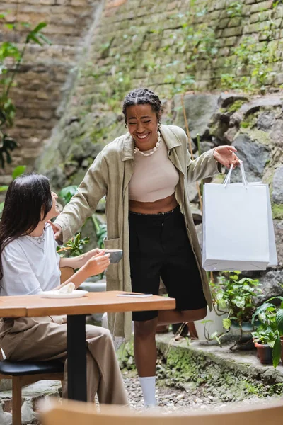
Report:
M 106 195 L 105 246 L 124 251 L 122 261 L 108 267 L 108 290 L 157 295 L 162 279 L 175 298 L 176 310 L 132 314 L 144 403 L 154 405 L 157 325 L 200 320 L 207 305 L 212 307 L 187 184 L 217 174 L 218 163 L 237 166 L 238 157 L 234 147 L 219 146 L 191 159 L 185 132 L 161 125 L 161 101 L 148 89 L 127 94 L 123 113 L 129 132 L 98 154 L 54 232 L 69 239 Z M 110 330 L 128 338 L 130 320 L 121 314 L 110 317 Z

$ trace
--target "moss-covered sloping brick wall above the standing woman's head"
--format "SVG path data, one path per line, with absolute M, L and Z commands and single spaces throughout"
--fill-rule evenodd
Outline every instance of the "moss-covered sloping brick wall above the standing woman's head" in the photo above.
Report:
M 144 84 L 170 98 L 190 89 L 225 89 L 225 84 L 237 89 L 237 81 L 241 89 L 245 84 L 248 88 L 283 83 L 283 4 L 196 0 L 191 7 L 190 3 L 108 1 L 91 40 L 91 60 L 79 81 L 81 104 L 103 104 L 108 96 L 121 100 L 127 89 Z M 243 52 L 235 53 L 241 43 L 250 49 L 250 58 L 264 52 L 259 60 L 265 63 L 237 69 L 239 60 L 253 62 L 242 58 Z M 225 83 L 221 74 L 233 81 Z

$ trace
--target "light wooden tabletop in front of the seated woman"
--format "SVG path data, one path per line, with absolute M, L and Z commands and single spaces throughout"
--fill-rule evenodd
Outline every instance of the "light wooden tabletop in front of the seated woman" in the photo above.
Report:
M 0 297 L 0 317 L 42 317 L 50 314 L 94 314 L 172 310 L 175 300 L 169 297 L 117 297 L 122 291 L 88 293 L 81 298 L 44 298 L 42 295 Z

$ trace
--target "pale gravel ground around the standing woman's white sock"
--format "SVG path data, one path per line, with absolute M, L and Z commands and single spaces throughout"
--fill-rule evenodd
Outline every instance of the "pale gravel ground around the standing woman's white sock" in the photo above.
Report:
M 141 410 L 144 407 L 141 387 L 137 374 L 134 372 L 123 372 L 125 387 L 129 397 L 129 404 L 134 410 Z M 204 396 L 202 388 L 196 390 L 180 390 L 172 387 L 157 387 L 156 400 L 158 407 L 162 407 L 163 412 L 187 412 L 188 409 L 206 409 L 217 410 L 227 407 L 236 407 L 237 404 L 243 407 L 243 404 L 255 404 L 258 402 L 270 402 L 275 397 L 249 397 L 241 402 L 219 402 L 212 396 Z

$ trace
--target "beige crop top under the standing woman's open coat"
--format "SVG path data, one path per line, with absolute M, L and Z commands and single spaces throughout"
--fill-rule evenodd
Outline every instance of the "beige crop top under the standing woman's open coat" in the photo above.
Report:
M 168 158 L 168 150 L 161 139 L 154 154 L 145 157 L 139 151 L 134 154 L 134 174 L 129 182 L 129 199 L 154 202 L 175 192 L 179 173 Z

